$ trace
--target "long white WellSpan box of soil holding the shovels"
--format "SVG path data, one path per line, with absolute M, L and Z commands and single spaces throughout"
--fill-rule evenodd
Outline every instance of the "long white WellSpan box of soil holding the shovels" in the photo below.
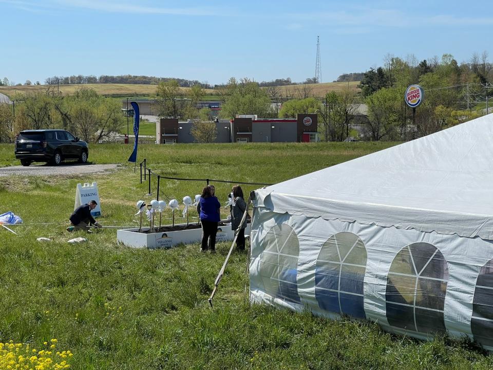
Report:
M 185 226 L 177 224 L 175 226 Z M 169 227 L 170 225 L 165 225 Z M 164 226 L 163 226 L 164 227 Z M 200 243 L 202 240 L 202 228 L 189 230 L 176 230 L 166 232 L 146 233 L 149 228 L 117 230 L 117 242 L 133 248 L 171 248 L 178 244 Z M 245 235 L 250 234 L 250 224 L 245 229 Z M 231 230 L 231 224 L 219 226 L 216 234 L 216 242 L 233 241 L 235 235 Z

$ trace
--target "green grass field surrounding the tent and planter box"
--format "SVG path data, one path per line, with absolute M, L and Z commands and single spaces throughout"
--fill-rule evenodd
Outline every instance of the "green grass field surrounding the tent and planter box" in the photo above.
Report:
M 140 145 L 165 176 L 279 182 L 395 143 Z M 126 162 L 130 145 L 92 144 L 93 163 L 122 163 L 110 174 L 0 177 L 2 212 L 24 219 L 0 229 L 0 340 L 58 339 L 73 369 L 489 369 L 493 358 L 468 343 L 420 342 L 392 336 L 376 324 L 312 317 L 248 303 L 246 253 L 232 254 L 216 294 L 206 302 L 229 245 L 215 255 L 199 245 L 135 250 L 116 244 L 116 231 L 68 234 L 78 182 L 97 181 L 104 225 L 136 225 L 135 202 L 146 202 L 139 168 Z M 19 164 L 13 145 L 0 145 L 0 166 Z M 194 196 L 202 182 L 161 183 L 164 199 Z M 216 183 L 225 201 L 231 186 Z M 253 187 L 243 187 L 245 191 Z M 223 217 L 226 212 L 223 213 Z M 165 217 L 170 217 L 169 211 Z M 192 213 L 191 216 L 196 216 Z M 52 223 L 51 225 L 29 225 Z M 53 239 L 36 242 L 36 237 Z M 66 241 L 84 236 L 88 242 Z

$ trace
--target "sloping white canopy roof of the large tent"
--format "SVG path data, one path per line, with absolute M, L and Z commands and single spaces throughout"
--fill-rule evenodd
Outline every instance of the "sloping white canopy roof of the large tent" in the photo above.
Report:
M 492 240 L 493 114 L 256 193 L 278 213 Z

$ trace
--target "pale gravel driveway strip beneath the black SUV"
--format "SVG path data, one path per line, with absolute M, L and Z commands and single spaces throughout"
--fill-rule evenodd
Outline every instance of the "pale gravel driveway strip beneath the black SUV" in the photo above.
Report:
M 50 176 L 50 175 L 80 175 L 92 174 L 96 172 L 105 172 L 116 170 L 118 164 L 62 164 L 51 166 L 46 164 L 24 166 L 12 166 L 0 168 L 0 176 L 9 175 L 33 175 L 33 176 Z

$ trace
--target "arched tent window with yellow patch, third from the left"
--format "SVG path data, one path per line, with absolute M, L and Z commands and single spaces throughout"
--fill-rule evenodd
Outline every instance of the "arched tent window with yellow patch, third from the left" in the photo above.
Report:
M 437 247 L 413 243 L 401 249 L 387 276 L 389 324 L 425 334 L 444 332 L 447 282 L 447 262 Z

